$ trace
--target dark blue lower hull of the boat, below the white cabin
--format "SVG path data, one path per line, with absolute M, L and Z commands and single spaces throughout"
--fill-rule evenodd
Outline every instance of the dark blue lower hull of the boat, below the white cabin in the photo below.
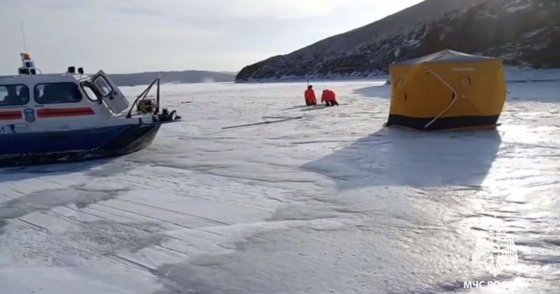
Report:
M 133 153 L 149 146 L 161 124 L 0 135 L 0 167 L 80 162 Z

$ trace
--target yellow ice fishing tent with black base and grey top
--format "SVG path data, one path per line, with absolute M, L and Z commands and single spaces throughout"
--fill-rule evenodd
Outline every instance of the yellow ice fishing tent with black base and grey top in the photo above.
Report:
M 391 65 L 387 126 L 494 127 L 506 102 L 501 60 L 444 50 Z

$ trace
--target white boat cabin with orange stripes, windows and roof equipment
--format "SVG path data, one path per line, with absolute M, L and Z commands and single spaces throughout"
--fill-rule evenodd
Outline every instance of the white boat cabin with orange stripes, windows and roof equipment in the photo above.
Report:
M 76 73 L 70 67 L 63 74 L 42 74 L 29 54 L 21 56 L 18 75 L 0 76 L 0 133 L 6 123 L 35 129 L 42 123 L 107 121 L 126 116 L 123 111 L 130 104 L 103 70 L 86 76 L 82 68 Z

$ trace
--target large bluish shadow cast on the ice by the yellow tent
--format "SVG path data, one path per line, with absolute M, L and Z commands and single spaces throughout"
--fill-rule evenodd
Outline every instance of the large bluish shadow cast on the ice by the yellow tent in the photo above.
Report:
M 500 144 L 497 130 L 425 133 L 384 127 L 302 168 L 328 176 L 339 190 L 371 186 L 478 187 Z

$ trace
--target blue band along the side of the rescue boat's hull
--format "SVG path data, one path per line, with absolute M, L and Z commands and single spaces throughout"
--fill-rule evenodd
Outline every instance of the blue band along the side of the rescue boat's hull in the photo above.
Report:
M 117 125 L 88 130 L 2 134 L 0 157 L 91 150 L 113 141 L 129 127 L 130 125 Z

